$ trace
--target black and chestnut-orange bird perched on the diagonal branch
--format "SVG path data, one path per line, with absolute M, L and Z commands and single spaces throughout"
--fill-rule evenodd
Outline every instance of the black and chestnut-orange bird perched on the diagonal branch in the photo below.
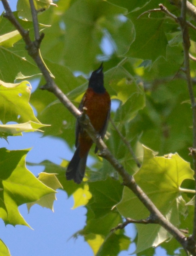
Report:
M 92 126 L 103 139 L 106 134 L 111 107 L 110 95 L 104 87 L 103 63 L 90 76 L 88 88 L 79 105 L 81 113 L 83 113 L 84 107 Z M 76 151 L 67 166 L 66 178 L 80 184 L 84 177 L 86 161 L 93 141 L 78 121 L 76 121 L 75 135 Z M 95 153 L 97 151 L 96 146 Z

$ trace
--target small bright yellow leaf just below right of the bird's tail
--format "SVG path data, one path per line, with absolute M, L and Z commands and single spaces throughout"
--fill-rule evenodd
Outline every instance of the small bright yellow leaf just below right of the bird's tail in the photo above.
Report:
M 72 209 L 75 209 L 79 206 L 86 205 L 89 200 L 92 198 L 92 194 L 89 192 L 88 184 L 84 184 L 84 188 L 79 188 L 73 193 L 74 206 Z

